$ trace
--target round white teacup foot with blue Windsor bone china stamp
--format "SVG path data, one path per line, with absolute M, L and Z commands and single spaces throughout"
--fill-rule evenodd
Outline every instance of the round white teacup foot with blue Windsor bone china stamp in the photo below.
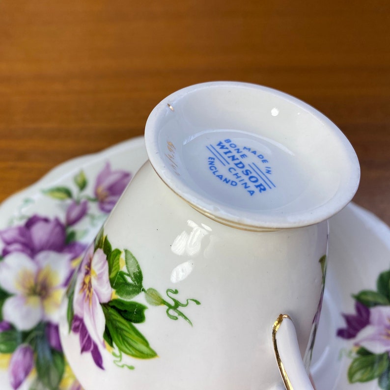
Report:
M 177 91 L 150 114 L 145 141 L 174 192 L 210 218 L 253 230 L 325 220 L 359 183 L 356 154 L 329 119 L 259 85 Z

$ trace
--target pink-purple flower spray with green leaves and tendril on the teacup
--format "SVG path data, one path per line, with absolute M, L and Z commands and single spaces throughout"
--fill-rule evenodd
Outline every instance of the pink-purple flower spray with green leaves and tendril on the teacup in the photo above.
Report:
M 190 298 L 181 303 L 175 297 L 178 290 L 167 289 L 167 298 L 163 298 L 156 289 L 145 288 L 142 270 L 133 253 L 113 249 L 101 230 L 86 251 L 67 292 L 69 330 L 79 334 L 81 353 L 90 353 L 99 368 L 105 369 L 104 350 L 111 353 L 114 364 L 128 369 L 135 366 L 125 364 L 123 355 L 138 359 L 157 357 L 136 326 L 146 320 L 147 306 L 133 300 L 140 294 L 144 294 L 150 306 L 165 306 L 168 318 L 182 318 L 192 326 L 180 308 L 200 302 Z

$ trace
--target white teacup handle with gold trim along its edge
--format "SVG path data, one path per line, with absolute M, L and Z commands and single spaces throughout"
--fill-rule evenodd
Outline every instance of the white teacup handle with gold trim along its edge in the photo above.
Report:
M 280 314 L 275 321 L 272 341 L 286 390 L 314 390 L 302 361 L 294 324 L 287 314 Z

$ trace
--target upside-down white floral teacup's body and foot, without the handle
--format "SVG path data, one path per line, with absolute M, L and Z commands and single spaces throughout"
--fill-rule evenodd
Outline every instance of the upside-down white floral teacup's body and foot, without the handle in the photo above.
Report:
M 280 318 L 309 366 L 327 220 L 359 184 L 352 146 L 302 101 L 232 82 L 168 96 L 145 143 L 68 289 L 72 369 L 86 390 L 280 388 Z

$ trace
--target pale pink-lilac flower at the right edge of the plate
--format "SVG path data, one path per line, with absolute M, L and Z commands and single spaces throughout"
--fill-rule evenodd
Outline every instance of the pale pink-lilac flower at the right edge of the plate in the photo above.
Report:
M 390 306 L 370 309 L 369 324 L 356 335 L 355 344 L 373 354 L 390 353 Z

